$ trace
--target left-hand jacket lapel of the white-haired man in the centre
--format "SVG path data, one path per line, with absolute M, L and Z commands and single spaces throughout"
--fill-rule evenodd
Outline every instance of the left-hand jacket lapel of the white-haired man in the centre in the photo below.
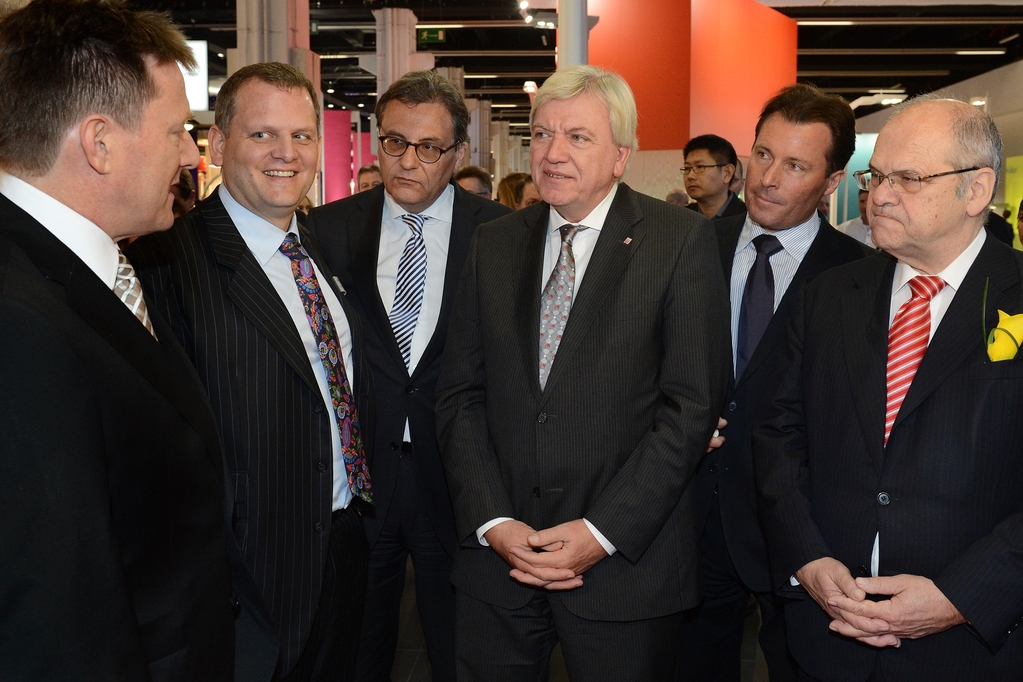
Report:
M 516 291 L 516 318 L 522 320 L 519 325 L 519 343 L 522 349 L 523 365 L 533 368 L 530 372 L 530 387 L 537 399 L 540 391 L 540 297 L 542 287 L 546 284 L 550 273 L 543 272 L 543 256 L 547 247 L 547 225 L 550 218 L 550 207 L 538 204 L 542 209 L 524 209 L 523 224 L 525 230 L 525 245 L 522 258 L 524 267 L 510 268 L 509 274 L 517 279 L 508 282 Z M 513 256 L 513 255 L 509 255 Z M 561 351 L 559 350 L 559 354 Z M 557 364 L 557 363 L 555 363 Z M 547 375 L 550 382 L 550 375 Z

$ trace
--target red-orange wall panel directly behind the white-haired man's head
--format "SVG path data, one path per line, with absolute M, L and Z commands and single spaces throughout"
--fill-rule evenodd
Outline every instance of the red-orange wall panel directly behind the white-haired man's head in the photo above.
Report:
M 589 63 L 628 81 L 639 109 L 640 149 L 681 149 L 688 140 L 690 2 L 588 2 L 587 13 L 601 17 L 589 32 Z

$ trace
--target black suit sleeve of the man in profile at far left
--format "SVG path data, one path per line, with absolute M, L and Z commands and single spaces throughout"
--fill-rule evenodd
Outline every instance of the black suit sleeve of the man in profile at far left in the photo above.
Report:
M 112 521 L 112 425 L 51 324 L 0 300 L 0 679 L 148 680 Z

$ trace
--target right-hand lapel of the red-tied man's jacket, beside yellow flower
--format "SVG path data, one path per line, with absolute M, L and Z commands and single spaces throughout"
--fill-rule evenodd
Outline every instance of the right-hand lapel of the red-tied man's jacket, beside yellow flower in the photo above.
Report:
M 989 331 L 998 320 L 999 307 L 1003 310 L 1009 308 L 1006 312 L 1011 312 L 1019 305 L 1018 292 L 1014 294 L 1010 290 L 1020 283 L 1019 268 L 1011 253 L 1002 248 L 990 236 L 977 255 L 977 260 L 955 292 L 955 298 L 927 347 L 920 369 L 917 370 L 895 423 L 892 424 L 893 433 L 970 354 L 984 352 L 986 339 L 983 337 L 980 320 L 985 281 L 990 282 L 984 326 Z

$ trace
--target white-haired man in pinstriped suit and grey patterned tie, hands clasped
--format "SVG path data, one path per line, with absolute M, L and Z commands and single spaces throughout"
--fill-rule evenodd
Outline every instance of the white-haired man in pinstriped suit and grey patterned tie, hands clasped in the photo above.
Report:
M 559 641 L 573 679 L 669 679 L 699 599 L 686 486 L 724 397 L 727 298 L 709 221 L 618 184 L 635 124 L 620 77 L 547 79 L 544 200 L 481 226 L 462 273 L 437 406 L 460 680 L 536 680 Z

